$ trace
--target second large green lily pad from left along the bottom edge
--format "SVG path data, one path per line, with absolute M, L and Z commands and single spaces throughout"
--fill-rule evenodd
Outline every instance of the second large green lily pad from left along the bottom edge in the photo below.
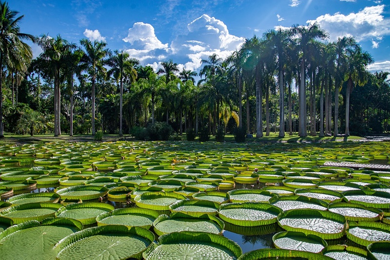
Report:
M 57 259 L 140 259 L 142 252 L 155 240 L 141 227 L 106 225 L 86 228 L 59 241 Z

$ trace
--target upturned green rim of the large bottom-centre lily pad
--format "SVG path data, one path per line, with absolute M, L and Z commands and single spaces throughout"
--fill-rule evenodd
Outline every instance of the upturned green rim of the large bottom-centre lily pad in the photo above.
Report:
M 143 258 L 147 259 L 148 256 L 153 252 L 153 250 L 161 244 L 175 244 L 175 243 L 192 243 L 192 244 L 215 244 L 218 248 L 224 247 L 226 250 L 232 252 L 235 258 L 238 258 L 242 255 L 241 247 L 234 241 L 225 238 L 220 235 L 206 233 L 206 232 L 190 232 L 190 231 L 181 231 L 173 232 L 169 234 L 162 235 L 158 238 L 158 243 L 149 247 L 143 253 Z

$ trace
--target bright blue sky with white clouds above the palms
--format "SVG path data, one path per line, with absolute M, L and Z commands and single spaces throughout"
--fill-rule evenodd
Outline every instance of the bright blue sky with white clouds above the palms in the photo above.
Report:
M 23 33 L 105 40 L 155 69 L 173 59 L 198 70 L 202 58 L 225 58 L 245 38 L 317 21 L 329 40 L 354 36 L 375 60 L 371 71 L 390 72 L 389 0 L 11 0 L 9 6 L 24 15 Z

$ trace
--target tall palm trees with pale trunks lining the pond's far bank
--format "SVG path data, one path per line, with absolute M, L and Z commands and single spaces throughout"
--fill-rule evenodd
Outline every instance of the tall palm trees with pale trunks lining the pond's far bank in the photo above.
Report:
M 270 93 L 278 91 L 279 136 L 284 137 L 286 125 L 290 134 L 293 129 L 294 84 L 298 86 L 299 136 L 307 136 L 308 130 L 311 135 L 316 135 L 318 127 L 320 136 L 331 134 L 332 126 L 333 134 L 338 135 L 338 98 L 343 85 L 347 88 L 344 100 L 345 134 L 349 135 L 350 94 L 354 86 L 367 83 L 370 73 L 366 67 L 373 62 L 353 37 L 328 42 L 328 33 L 316 23 L 293 25 L 287 30 L 270 30 L 262 37 L 247 39 L 226 59 L 214 54 L 202 60 L 200 80 L 195 86 L 197 73 L 179 71 L 172 60 L 162 62 L 162 68 L 155 73 L 150 66 L 140 66 L 137 59 L 124 51 L 112 52 L 104 41 L 82 39 L 77 45 L 59 35 L 53 38 L 22 34 L 19 27 L 22 16 L 16 18 L 18 13 L 10 10 L 5 2 L 0 4 L 0 12 L 0 84 L 3 78 L 12 79 L 8 84 L 13 90 L 12 104 L 15 104 L 18 75 L 30 75 L 30 81 L 34 80 L 37 85 L 38 96 L 41 79 L 45 84 L 52 84 L 55 136 L 61 134 L 61 107 L 69 101 L 71 135 L 74 110 L 81 103 L 84 107 L 87 103 L 91 110 L 93 135 L 96 132 L 96 108 L 103 114 L 103 121 L 104 118 L 109 120 L 112 111 L 107 104 L 111 104 L 119 108 L 120 135 L 123 134 L 123 117 L 129 129 L 146 125 L 149 119 L 151 123 L 157 118 L 162 121 L 165 116 L 167 123 L 170 119 L 176 122 L 180 134 L 183 132 L 183 119 L 186 128 L 194 128 L 197 132 L 200 123 L 208 125 L 215 133 L 222 123 L 226 132 L 229 120 L 234 118 L 239 128 L 246 127 L 248 133 L 255 131 L 256 136 L 261 137 L 263 107 L 266 135 L 269 135 Z M 31 49 L 22 40 L 38 43 L 43 52 L 31 60 Z M 3 76 L 3 71 L 7 77 Z M 34 75 L 37 77 L 34 78 Z M 28 79 L 26 76 L 22 78 Z M 87 93 L 77 101 L 75 94 L 78 95 L 81 90 L 87 90 Z M 285 97 L 286 90 L 288 98 Z M 61 92 L 65 92 L 67 100 L 61 99 Z M 111 100 L 110 95 L 114 99 Z M 118 104 L 115 103 L 115 95 L 119 97 Z M 253 99 L 255 122 L 251 119 L 253 108 L 250 108 Z M 3 137 L 1 102 L 2 98 L 0 137 Z M 246 111 L 243 111 L 243 103 Z M 246 115 L 245 119 L 243 115 Z M 288 124 L 285 124 L 286 119 Z

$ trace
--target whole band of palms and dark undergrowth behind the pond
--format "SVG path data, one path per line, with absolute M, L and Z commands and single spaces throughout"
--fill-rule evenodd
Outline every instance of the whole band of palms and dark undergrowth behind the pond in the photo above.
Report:
M 0 137 L 3 131 L 128 134 L 166 122 L 177 134 L 241 129 L 299 136 L 389 131 L 388 73 L 353 37 L 327 41 L 316 23 L 269 30 L 198 74 L 173 60 L 157 72 L 104 41 L 20 33 L 23 16 L 0 2 Z M 32 59 L 31 40 L 43 50 Z M 195 84 L 196 83 L 196 84 Z M 242 130 L 244 129 L 244 130 Z

